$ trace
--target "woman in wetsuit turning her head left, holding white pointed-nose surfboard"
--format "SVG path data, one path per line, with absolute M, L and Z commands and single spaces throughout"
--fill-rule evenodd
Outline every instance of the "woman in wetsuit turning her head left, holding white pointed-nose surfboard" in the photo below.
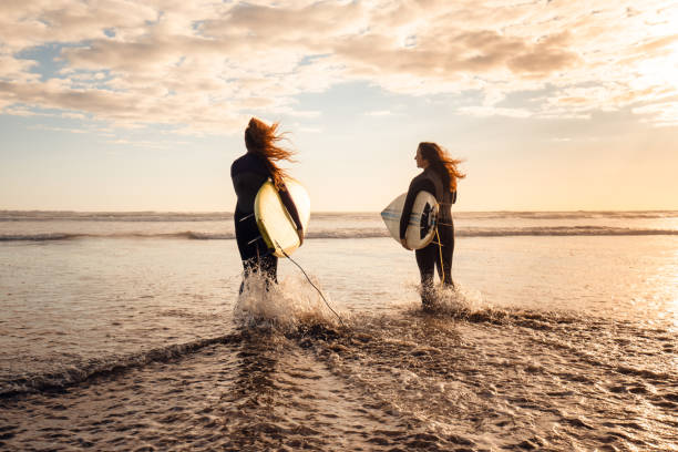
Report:
M 400 217 L 400 242 L 404 248 L 410 249 L 404 237 L 412 205 L 419 192 L 425 191 L 434 195 L 440 204 L 438 236 L 431 244 L 414 251 L 421 275 L 421 302 L 424 308 L 431 308 L 434 300 L 434 268 L 438 268 L 438 277 L 443 285 L 454 287 L 452 281 L 452 255 L 454 253 L 452 204 L 456 202 L 456 179 L 465 177 L 465 174 L 460 173 L 456 168 L 461 161 L 451 158 L 435 143 L 419 143 L 414 160 L 417 167 L 423 168 L 423 172 L 410 183 Z

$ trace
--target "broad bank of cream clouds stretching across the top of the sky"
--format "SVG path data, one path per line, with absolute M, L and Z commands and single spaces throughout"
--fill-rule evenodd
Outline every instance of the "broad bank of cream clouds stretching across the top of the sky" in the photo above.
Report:
M 678 93 L 677 25 L 671 0 L 4 0 L 0 109 L 228 133 L 257 111 L 315 115 L 295 96 L 363 81 L 412 95 L 482 92 L 464 114 L 630 105 L 666 124 L 675 103 L 653 102 Z M 545 86 L 554 94 L 540 102 L 502 104 Z

